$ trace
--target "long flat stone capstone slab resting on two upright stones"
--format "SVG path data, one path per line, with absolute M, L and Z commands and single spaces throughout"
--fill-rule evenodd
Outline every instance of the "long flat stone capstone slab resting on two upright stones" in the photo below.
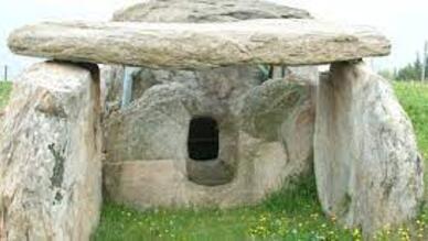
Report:
M 231 23 L 45 22 L 14 31 L 13 53 L 74 62 L 201 68 L 233 64 L 315 65 L 389 54 L 367 26 L 309 19 Z

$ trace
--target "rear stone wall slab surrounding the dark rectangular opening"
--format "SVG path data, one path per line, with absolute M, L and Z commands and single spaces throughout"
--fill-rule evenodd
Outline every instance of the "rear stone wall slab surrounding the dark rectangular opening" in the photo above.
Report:
M 253 66 L 135 73 L 133 102 L 105 121 L 109 197 L 140 208 L 227 207 L 259 201 L 310 173 L 313 86 L 295 80 L 261 84 Z M 189 154 L 197 117 L 218 124 L 218 156 L 207 162 Z

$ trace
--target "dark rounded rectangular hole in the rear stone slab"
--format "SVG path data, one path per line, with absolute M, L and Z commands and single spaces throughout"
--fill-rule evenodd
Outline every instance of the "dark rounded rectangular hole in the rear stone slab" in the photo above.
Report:
M 189 127 L 189 157 L 210 161 L 218 157 L 218 124 L 213 118 L 193 118 Z

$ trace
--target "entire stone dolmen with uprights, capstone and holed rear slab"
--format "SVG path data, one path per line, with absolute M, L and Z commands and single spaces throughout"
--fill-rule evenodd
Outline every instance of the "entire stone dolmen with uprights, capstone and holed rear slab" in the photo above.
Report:
M 9 48 L 46 61 L 0 119 L 0 240 L 88 240 L 104 199 L 226 208 L 313 176 L 325 215 L 365 233 L 421 204 L 410 120 L 363 61 L 390 53 L 373 28 L 159 0 L 26 25 Z

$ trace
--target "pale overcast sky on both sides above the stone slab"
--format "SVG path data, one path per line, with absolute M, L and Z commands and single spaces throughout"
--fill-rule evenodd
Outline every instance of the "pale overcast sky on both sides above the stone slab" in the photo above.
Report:
M 33 58 L 19 57 L 7 47 L 9 33 L 28 23 L 46 20 L 106 21 L 115 10 L 142 0 L 0 0 L 0 66 L 15 75 Z M 426 0 L 271 0 L 304 8 L 314 17 L 351 24 L 376 26 L 393 42 L 389 57 L 375 59 L 374 67 L 394 68 L 413 61 L 428 40 Z M 183 2 L 185 2 L 183 0 Z

